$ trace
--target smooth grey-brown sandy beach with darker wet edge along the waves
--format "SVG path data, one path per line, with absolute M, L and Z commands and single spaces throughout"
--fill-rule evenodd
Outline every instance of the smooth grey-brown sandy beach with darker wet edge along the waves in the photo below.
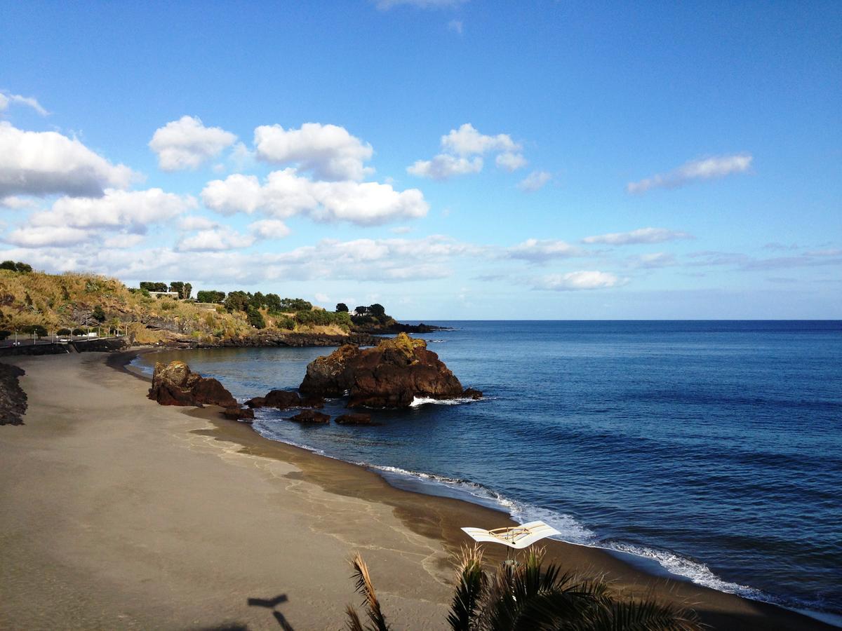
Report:
M 0 628 L 342 628 L 360 601 L 356 550 L 394 628 L 445 628 L 459 528 L 510 523 L 271 442 L 212 408 L 158 406 L 119 359 L 3 360 L 26 371 L 29 410 L 23 426 L 0 427 Z M 690 604 L 714 628 L 832 628 L 600 549 L 547 549 L 623 591 Z

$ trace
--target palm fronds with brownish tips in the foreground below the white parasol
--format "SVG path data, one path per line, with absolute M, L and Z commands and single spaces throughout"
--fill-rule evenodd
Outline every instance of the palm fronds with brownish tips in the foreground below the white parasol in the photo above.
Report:
M 701 625 L 690 610 L 652 599 L 620 601 L 601 579 L 587 581 L 562 574 L 555 564 L 543 567 L 543 549 L 528 549 L 514 563 L 502 563 L 493 575 L 482 567 L 478 546 L 463 548 L 456 569 L 456 590 L 447 622 L 454 631 L 556 629 L 557 631 L 696 631 Z M 363 627 L 350 605 L 350 631 L 387 631 L 368 566 L 360 554 L 351 559 L 356 590 L 365 597 L 370 624 Z

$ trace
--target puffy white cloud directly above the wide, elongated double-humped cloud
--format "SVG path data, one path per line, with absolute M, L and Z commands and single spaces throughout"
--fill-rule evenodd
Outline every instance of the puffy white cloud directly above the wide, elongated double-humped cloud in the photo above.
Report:
M 338 125 L 305 123 L 297 130 L 261 125 L 254 130 L 257 156 L 274 164 L 294 164 L 326 180 L 362 180 L 374 150 Z

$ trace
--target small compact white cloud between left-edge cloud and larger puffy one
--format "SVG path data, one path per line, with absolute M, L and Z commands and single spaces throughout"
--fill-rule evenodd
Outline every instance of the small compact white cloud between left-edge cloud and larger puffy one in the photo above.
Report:
M 237 136 L 220 127 L 205 127 L 195 116 L 182 116 L 155 130 L 149 148 L 164 171 L 198 168 L 232 146 Z

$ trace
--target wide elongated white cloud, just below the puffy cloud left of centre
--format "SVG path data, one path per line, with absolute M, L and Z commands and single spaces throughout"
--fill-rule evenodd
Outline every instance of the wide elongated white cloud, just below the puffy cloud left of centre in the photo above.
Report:
M 241 174 L 215 180 L 201 197 L 208 208 L 223 214 L 260 211 L 277 219 L 306 214 L 319 221 L 359 225 L 423 217 L 429 210 L 417 188 L 398 192 L 376 182 L 314 182 L 294 168 L 269 173 L 263 185 Z

